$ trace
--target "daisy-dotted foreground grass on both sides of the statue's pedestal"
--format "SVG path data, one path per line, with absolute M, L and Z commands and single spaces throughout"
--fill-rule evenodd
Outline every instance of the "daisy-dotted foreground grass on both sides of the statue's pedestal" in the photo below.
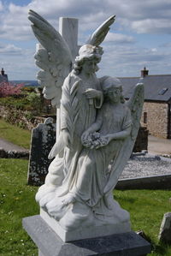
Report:
M 38 255 L 22 229 L 23 217 L 38 214 L 34 196 L 38 188 L 27 186 L 27 160 L 0 159 L 0 255 Z M 153 246 L 149 255 L 171 255 L 171 247 L 159 244 L 157 235 L 163 214 L 170 211 L 170 191 L 115 191 L 115 199 L 130 212 L 132 229 L 143 229 Z

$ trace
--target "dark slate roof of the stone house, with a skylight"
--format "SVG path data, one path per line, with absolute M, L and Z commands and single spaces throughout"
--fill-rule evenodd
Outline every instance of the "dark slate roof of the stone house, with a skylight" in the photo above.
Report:
M 130 98 L 133 87 L 140 77 L 119 77 L 123 86 L 123 95 Z M 146 75 L 144 82 L 144 100 L 168 102 L 171 100 L 171 74 Z

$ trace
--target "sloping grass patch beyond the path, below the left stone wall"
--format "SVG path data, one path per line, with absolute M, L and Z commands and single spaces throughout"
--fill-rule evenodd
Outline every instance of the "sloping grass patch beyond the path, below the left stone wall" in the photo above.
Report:
M 30 137 L 30 131 L 9 124 L 9 122 L 5 122 L 2 118 L 0 119 L 0 138 L 29 149 Z

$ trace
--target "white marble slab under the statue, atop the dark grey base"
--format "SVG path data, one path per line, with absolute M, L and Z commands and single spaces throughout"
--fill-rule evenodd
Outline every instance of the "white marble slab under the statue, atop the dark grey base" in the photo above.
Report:
M 118 222 L 114 224 L 105 224 L 101 226 L 88 226 L 80 227 L 74 230 L 65 230 L 59 225 L 55 218 L 50 217 L 50 215 L 44 210 L 40 210 L 40 216 L 44 221 L 56 232 L 62 241 L 75 241 L 86 238 L 93 238 L 100 235 L 114 235 L 119 233 L 126 233 L 131 231 L 131 225 L 129 221 Z

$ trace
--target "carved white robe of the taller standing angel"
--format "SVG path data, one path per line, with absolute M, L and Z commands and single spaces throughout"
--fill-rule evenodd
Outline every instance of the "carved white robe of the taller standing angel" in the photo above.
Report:
M 71 107 L 74 98 L 68 97 L 68 91 L 72 91 L 72 86 L 77 81 L 79 81 L 79 86 L 74 98 L 77 98 L 79 108 L 78 112 L 75 113 L 75 116 L 78 115 L 78 118 L 74 124 L 71 118 L 74 113 L 74 109 Z M 61 129 L 67 128 L 70 131 L 71 128 L 69 126 L 71 124 L 74 126 L 72 128 L 74 132 L 71 134 L 73 135 L 72 149 L 68 147 L 64 149 L 63 162 L 65 178 L 62 182 L 62 187 L 56 191 L 56 193 L 59 193 L 59 196 L 74 191 L 74 187 L 78 182 L 77 177 L 79 176 L 81 165 L 85 162 L 85 158 L 87 158 L 87 152 L 90 151 L 85 150 L 82 146 L 81 135 L 96 121 L 97 108 L 100 108 L 103 103 L 103 95 L 100 100 L 94 99 L 94 102 L 91 103 L 90 99 L 86 98 L 84 94 L 85 90 L 89 88 L 101 91 L 99 80 L 97 80 L 95 74 L 91 75 L 91 80 L 88 81 L 80 80 L 78 75 L 69 74 L 62 87 Z M 73 119 L 75 116 L 73 116 Z

